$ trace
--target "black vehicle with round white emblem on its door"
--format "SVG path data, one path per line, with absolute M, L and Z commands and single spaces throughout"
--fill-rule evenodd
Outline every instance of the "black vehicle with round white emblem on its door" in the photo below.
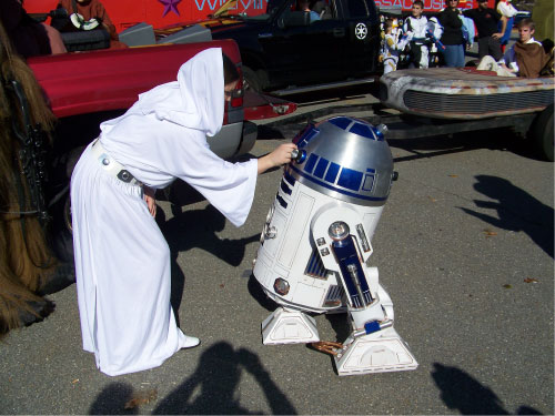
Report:
M 319 0 L 311 9 L 319 20 L 296 10 L 295 0 L 269 0 L 263 14 L 215 13 L 200 24 L 213 39 L 238 42 L 246 88 L 287 94 L 373 81 L 380 50 L 374 0 Z

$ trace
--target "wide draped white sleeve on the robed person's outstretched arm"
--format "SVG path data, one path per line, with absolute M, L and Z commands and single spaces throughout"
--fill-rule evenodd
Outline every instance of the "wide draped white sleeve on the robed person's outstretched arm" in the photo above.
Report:
M 214 154 L 204 135 L 190 138 L 159 149 L 164 170 L 199 191 L 235 226 L 241 226 L 251 211 L 256 186 L 258 160 L 230 163 Z

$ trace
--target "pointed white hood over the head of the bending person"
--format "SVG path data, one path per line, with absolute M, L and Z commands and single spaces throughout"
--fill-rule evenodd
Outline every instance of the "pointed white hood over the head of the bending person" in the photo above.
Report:
M 222 128 L 223 61 L 221 48 L 199 52 L 183 63 L 178 81 L 139 95 L 143 114 L 215 135 Z

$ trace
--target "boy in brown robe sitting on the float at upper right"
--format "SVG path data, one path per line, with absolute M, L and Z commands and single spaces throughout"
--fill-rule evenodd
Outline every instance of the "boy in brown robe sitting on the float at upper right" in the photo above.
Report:
M 523 19 L 517 24 L 518 40 L 506 50 L 503 58 L 495 62 L 492 57 L 484 57 L 478 70 L 492 70 L 498 75 L 537 78 L 548 61 L 541 42 L 533 35 L 535 24 L 532 19 Z

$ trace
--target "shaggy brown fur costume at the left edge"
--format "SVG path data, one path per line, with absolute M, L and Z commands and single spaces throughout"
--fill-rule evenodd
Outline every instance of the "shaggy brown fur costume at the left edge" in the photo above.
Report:
M 26 62 L 17 55 L 0 24 L 0 337 L 9 329 L 48 314 L 48 302 L 36 294 L 53 273 L 56 261 L 50 254 L 41 224 L 29 203 L 29 187 L 21 174 L 18 156 L 20 141 L 12 122 L 22 126 L 20 108 L 7 90 L 17 80 L 29 101 L 34 124 L 51 131 L 54 118 L 44 103 L 40 87 Z M 21 129 L 22 130 L 22 129 Z M 19 181 L 18 176 L 19 175 Z M 20 183 L 18 185 L 18 183 Z M 22 185 L 22 186 L 21 186 Z M 23 192 L 26 206 L 18 193 Z M 23 235 L 24 233 L 24 235 Z M 31 315 L 32 319 L 29 319 Z M 26 318 L 27 317 L 27 318 Z

